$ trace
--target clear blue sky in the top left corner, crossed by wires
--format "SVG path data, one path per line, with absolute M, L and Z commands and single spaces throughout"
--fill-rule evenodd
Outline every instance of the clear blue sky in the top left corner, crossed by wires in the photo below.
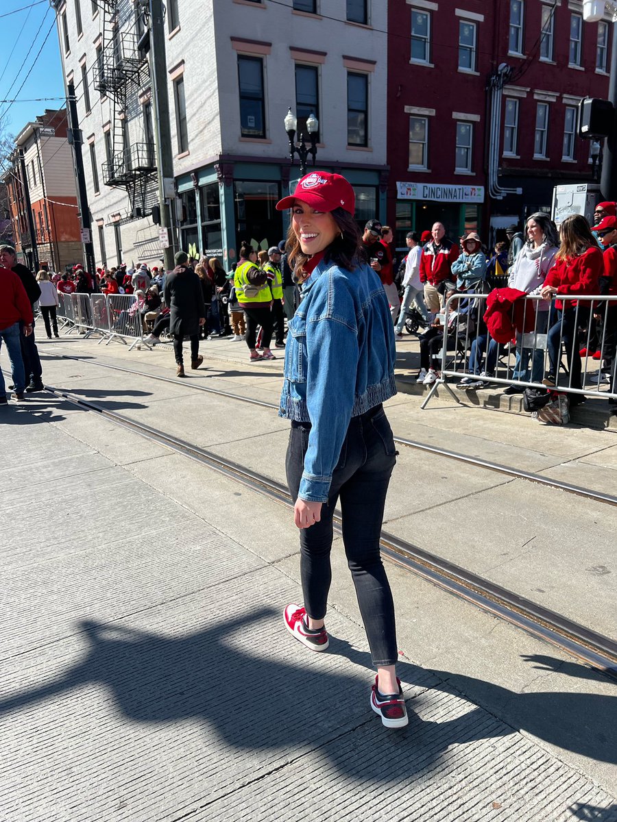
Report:
M 0 103 L 0 117 L 7 113 L 7 131 L 15 135 L 46 108 L 64 104 L 58 29 L 49 0 L 2 0 L 0 26 L 4 44 L 0 51 L 0 99 L 24 101 Z M 26 102 L 41 97 L 62 99 Z

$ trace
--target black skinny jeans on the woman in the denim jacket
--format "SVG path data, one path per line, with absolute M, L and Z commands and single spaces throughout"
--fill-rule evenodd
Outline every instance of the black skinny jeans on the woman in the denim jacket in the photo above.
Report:
M 294 501 L 304 470 L 310 428 L 310 423 L 291 423 L 285 470 Z M 375 667 L 397 662 L 394 603 L 379 552 L 387 486 L 396 461 L 392 429 L 381 405 L 351 418 L 332 475 L 330 495 L 322 505 L 322 518 L 300 531 L 304 607 L 309 617 L 322 619 L 326 616 L 332 582 L 332 514 L 340 497 L 347 565 Z

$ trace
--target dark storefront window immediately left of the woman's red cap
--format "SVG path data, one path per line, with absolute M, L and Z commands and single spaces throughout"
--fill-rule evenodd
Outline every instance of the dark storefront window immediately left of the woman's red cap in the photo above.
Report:
M 236 245 L 243 240 L 253 248 L 267 250 L 283 239 L 281 211 L 275 208 L 281 199 L 279 182 L 236 180 L 234 182 L 234 207 Z

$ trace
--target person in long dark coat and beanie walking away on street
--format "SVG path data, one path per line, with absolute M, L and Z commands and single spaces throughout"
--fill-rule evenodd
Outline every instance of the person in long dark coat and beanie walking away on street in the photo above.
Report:
M 188 255 L 178 252 L 174 261 L 176 267 L 165 277 L 165 305 L 171 316 L 169 333 L 174 336 L 177 375 L 184 376 L 184 337 L 191 339 L 191 367 L 198 368 L 203 363 L 199 353 L 199 327 L 206 322 L 206 307 L 199 277 L 187 265 Z

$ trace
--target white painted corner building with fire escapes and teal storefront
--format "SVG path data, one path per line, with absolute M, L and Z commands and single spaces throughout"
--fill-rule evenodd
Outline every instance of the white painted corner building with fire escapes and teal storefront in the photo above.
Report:
M 132 0 L 57 3 L 64 73 L 76 85 L 86 144 L 97 263 L 155 264 L 158 230 L 149 215 L 155 176 L 146 148 L 151 90 L 146 63 L 137 65 L 142 28 L 136 6 Z M 318 118 L 316 167 L 350 179 L 357 218 L 385 217 L 387 0 L 166 5 L 176 213 L 184 250 L 222 256 L 228 265 L 241 240 L 267 247 L 284 236 L 286 217 L 274 205 L 289 192 L 290 179 L 299 177 L 283 125 L 290 107 L 299 127 L 309 113 Z M 119 33 L 110 23 L 114 15 Z M 116 87 L 118 65 L 135 72 L 125 99 Z M 105 180 L 124 188 L 108 187 Z M 133 183 L 143 191 L 131 199 L 126 189 Z

